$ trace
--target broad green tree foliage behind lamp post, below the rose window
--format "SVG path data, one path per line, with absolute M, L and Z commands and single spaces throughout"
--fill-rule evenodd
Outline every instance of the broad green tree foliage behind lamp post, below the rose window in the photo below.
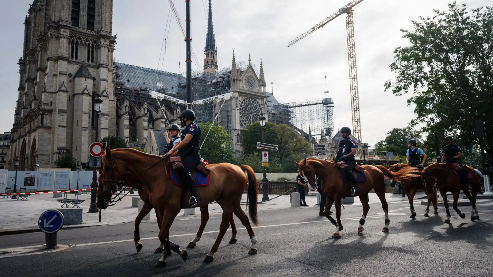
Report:
M 311 156 L 311 144 L 287 125 L 265 124 L 265 143 L 276 144 L 278 151 L 269 151 L 269 172 L 297 172 L 295 161 Z M 238 163 L 249 165 L 255 172 L 262 172 L 262 149 L 257 149 L 257 142 L 262 141 L 262 127 L 259 122 L 252 123 L 242 130 L 244 157 Z

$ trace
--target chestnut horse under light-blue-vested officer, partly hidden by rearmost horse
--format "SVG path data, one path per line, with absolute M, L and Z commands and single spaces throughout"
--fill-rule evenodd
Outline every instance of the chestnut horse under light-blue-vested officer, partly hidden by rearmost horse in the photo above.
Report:
M 388 162 L 388 170 L 391 172 L 398 172 L 400 169 L 405 168 L 405 167 L 415 167 L 413 165 L 409 164 L 394 164 L 390 165 L 390 162 Z M 437 191 L 433 189 L 433 185 L 426 187 L 425 183 L 421 179 L 421 176 L 414 177 L 412 179 L 408 180 L 402 180 L 400 181 L 402 183 L 402 188 L 406 192 L 407 199 L 409 200 L 409 209 L 411 210 L 411 216 L 410 218 L 415 218 L 416 217 L 416 211 L 414 209 L 413 205 L 413 200 L 414 196 L 416 195 L 416 192 L 418 192 L 418 189 L 423 188 L 424 193 L 428 197 L 429 200 L 433 201 L 433 208 L 435 209 L 434 214 L 438 214 L 438 202 L 437 202 Z M 396 183 L 396 180 L 392 180 L 390 183 L 390 187 L 394 187 Z M 428 207 L 426 207 L 426 210 L 424 212 L 424 216 L 428 217 L 428 212 L 430 211 L 430 203 L 431 201 L 428 201 Z

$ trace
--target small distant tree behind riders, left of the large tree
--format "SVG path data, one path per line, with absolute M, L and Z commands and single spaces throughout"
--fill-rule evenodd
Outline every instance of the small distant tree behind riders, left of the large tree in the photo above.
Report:
M 406 151 L 409 149 L 407 143 L 410 139 L 415 139 L 418 145 L 421 143 L 421 133 L 413 130 L 410 127 L 407 128 L 392 128 L 388 132 L 387 137 L 384 140 L 380 140 L 375 144 L 375 151 L 387 151 L 397 153 L 400 156 L 406 156 Z

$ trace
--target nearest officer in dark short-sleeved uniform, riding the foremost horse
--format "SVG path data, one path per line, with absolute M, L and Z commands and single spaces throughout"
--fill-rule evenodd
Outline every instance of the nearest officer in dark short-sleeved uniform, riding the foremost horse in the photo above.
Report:
M 195 112 L 191 109 L 186 109 L 181 112 L 180 115 L 181 125 L 186 126 L 180 133 L 181 141 L 173 146 L 173 148 L 166 154 L 172 155 L 178 150 L 178 155 L 181 155 L 181 162 L 183 168 L 178 171 L 183 182 L 190 190 L 190 208 L 195 208 L 199 205 L 200 199 L 195 189 L 195 182 L 193 181 L 190 171 L 192 171 L 200 162 L 201 156 L 199 152 L 200 146 L 200 129 L 193 122 L 195 120 Z

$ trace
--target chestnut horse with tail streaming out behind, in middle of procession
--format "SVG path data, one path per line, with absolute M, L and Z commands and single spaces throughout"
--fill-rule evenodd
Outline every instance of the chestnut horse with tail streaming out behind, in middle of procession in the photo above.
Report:
M 295 162 L 296 163 L 296 162 Z M 315 187 L 315 175 L 320 176 L 322 181 L 322 191 L 327 197 L 325 202 L 324 215 L 329 219 L 329 221 L 336 226 L 336 232 L 332 235 L 332 238 L 340 238 L 339 231 L 343 230 L 341 223 L 341 198 L 343 197 L 354 197 L 351 196 L 351 185 L 345 183 L 340 175 L 337 163 L 330 162 L 327 160 L 320 160 L 317 158 L 305 158 L 299 163 L 298 173 L 300 175 L 305 175 L 307 177 L 308 183 Z M 388 232 L 388 224 L 390 220 L 388 219 L 388 204 L 385 199 L 385 176 L 392 179 L 411 179 L 415 176 L 419 176 L 419 170 L 414 168 L 404 168 L 397 173 L 392 173 L 387 170 L 384 166 L 371 166 L 363 165 L 362 168 L 365 169 L 366 182 L 358 183 L 359 192 L 355 196 L 359 196 L 359 200 L 363 206 L 363 215 L 359 220 L 358 233 L 363 232 L 363 225 L 365 224 L 365 218 L 370 209 L 368 205 L 367 196 L 368 192 L 373 189 L 377 196 L 382 202 L 382 208 L 385 211 L 385 227 L 382 232 Z M 336 206 L 336 218 L 337 222 L 329 215 L 329 210 L 332 204 L 335 202 Z

